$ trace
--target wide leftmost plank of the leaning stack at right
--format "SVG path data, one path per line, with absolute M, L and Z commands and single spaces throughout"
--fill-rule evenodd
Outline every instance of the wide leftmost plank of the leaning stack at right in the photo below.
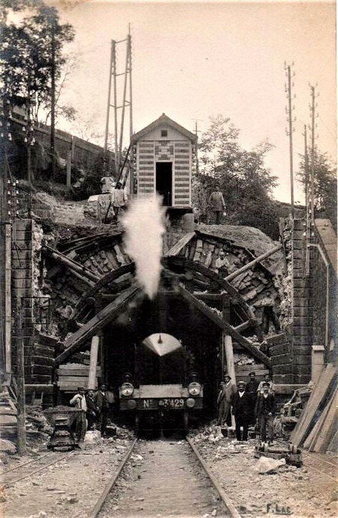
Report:
M 324 399 L 336 373 L 337 368 L 332 364 L 328 364 L 324 374 L 322 374 L 317 384 L 315 385 L 312 394 L 308 399 L 306 406 L 295 426 L 295 429 L 292 430 L 290 439 L 293 444 L 299 446 L 306 439 L 308 433 L 310 432 L 308 428 L 311 425 L 315 412 L 317 411 L 321 401 Z

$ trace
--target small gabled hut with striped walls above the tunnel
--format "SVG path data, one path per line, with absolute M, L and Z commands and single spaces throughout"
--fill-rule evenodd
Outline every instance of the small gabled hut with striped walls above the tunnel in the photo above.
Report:
M 157 192 L 166 207 L 190 209 L 197 136 L 163 113 L 134 134 L 131 142 L 137 196 Z

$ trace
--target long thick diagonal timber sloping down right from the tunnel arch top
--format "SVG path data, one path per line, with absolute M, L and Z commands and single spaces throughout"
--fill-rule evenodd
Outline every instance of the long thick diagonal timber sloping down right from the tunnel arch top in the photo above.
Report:
M 201 313 L 203 313 L 209 320 L 214 322 L 215 325 L 217 325 L 219 328 L 224 329 L 224 331 L 230 335 L 234 341 L 241 344 L 241 346 L 246 349 L 249 353 L 251 353 L 255 358 L 258 358 L 261 362 L 264 363 L 264 365 L 267 365 L 267 367 L 270 367 L 271 360 L 268 356 L 263 354 L 259 349 L 257 349 L 253 344 L 244 338 L 234 327 L 232 327 L 228 322 L 223 321 L 220 316 L 218 316 L 216 313 L 214 313 L 209 306 L 206 306 L 203 304 L 200 300 L 198 300 L 194 295 L 189 293 L 185 287 L 182 285 L 179 286 L 179 291 L 182 294 L 182 296 L 195 308 L 197 308 Z

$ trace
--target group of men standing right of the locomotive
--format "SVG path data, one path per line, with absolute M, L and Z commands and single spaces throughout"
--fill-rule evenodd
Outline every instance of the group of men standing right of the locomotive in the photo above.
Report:
M 260 439 L 273 441 L 273 416 L 275 413 L 274 385 L 269 375 L 258 382 L 255 372 L 249 373 L 249 381 L 239 381 L 237 386 L 226 375 L 221 383 L 218 398 L 218 424 L 231 424 L 232 414 L 236 423 L 236 438 L 247 441 L 248 427 L 258 426 Z

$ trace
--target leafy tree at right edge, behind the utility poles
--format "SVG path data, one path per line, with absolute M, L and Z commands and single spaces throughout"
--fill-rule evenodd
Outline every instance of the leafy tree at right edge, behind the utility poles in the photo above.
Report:
M 304 155 L 300 155 L 297 176 L 304 185 L 308 184 L 310 192 L 311 157 L 308 172 L 305 171 Z M 337 169 L 328 153 L 315 151 L 313 165 L 314 209 L 320 217 L 329 218 L 337 228 Z

